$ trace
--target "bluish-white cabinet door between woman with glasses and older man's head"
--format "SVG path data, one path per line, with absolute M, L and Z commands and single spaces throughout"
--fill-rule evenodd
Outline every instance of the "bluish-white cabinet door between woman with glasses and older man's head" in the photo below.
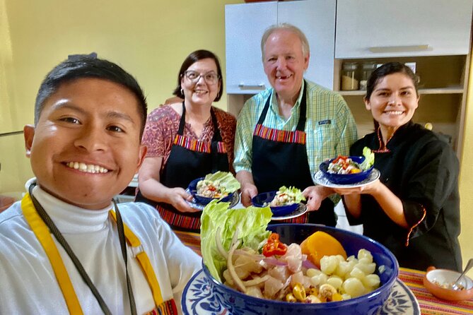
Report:
M 269 87 L 260 42 L 276 22 L 277 2 L 225 6 L 227 94 L 255 94 Z

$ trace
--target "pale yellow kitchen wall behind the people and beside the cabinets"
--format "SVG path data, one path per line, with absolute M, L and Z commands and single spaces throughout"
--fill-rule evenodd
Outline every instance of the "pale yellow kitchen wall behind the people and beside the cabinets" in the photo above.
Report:
M 45 73 L 68 54 L 97 52 L 136 76 L 150 108 L 171 96 L 182 60 L 215 52 L 225 69 L 225 4 L 243 0 L 0 0 L 0 133 L 33 124 Z M 473 69 L 469 90 L 473 90 Z M 226 108 L 226 95 L 218 106 Z M 469 110 L 468 110 L 469 109 Z M 473 160 L 473 97 L 467 100 L 463 161 Z M 32 176 L 22 136 L 0 138 L 0 193 L 23 191 Z M 463 257 L 473 257 L 473 167 L 464 164 Z M 472 274 L 470 272 L 470 274 Z

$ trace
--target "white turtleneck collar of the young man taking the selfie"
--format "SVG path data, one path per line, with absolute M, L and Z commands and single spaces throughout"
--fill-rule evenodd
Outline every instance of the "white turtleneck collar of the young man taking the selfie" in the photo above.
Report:
M 112 203 L 100 210 L 72 206 L 48 194 L 40 186 L 35 186 L 33 196 L 45 208 L 62 233 L 88 233 L 102 230 L 108 222 L 108 211 L 113 207 Z

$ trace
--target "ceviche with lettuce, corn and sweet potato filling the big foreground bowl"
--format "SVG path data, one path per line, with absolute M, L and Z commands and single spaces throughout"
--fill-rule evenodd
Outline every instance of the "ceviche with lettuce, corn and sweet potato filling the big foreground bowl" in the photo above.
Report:
M 267 231 L 269 208 L 228 209 L 209 203 L 202 213 L 202 257 L 209 273 L 235 290 L 284 302 L 323 303 L 359 297 L 380 287 L 384 266 L 370 251 L 347 256 L 341 243 L 317 231 L 284 244 Z

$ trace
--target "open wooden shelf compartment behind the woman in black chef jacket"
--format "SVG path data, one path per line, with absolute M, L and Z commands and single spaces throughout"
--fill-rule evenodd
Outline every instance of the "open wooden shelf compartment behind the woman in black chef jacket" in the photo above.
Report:
M 419 107 L 413 120 L 419 124 L 431 123 L 433 131 L 443 133 L 450 141 L 452 148 L 460 157 L 462 134 L 465 124 L 465 107 L 468 88 L 468 71 L 470 55 L 424 56 L 424 57 L 390 57 L 370 59 L 336 59 L 334 90 L 346 100 L 353 113 L 358 127 L 358 136 L 373 132 L 373 119 L 365 109 L 364 90 L 340 90 L 341 64 L 344 62 L 375 61 L 383 64 L 389 61 L 402 63 L 415 62 L 416 74 L 419 76 Z M 358 76 L 360 74 L 358 73 Z

